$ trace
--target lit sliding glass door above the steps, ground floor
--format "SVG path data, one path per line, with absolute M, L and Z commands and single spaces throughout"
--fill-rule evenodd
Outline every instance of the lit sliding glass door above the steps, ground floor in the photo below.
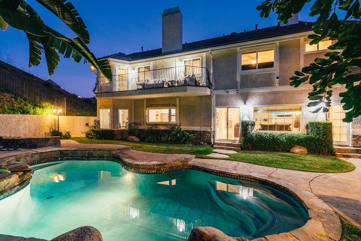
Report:
M 217 139 L 240 140 L 240 109 L 239 107 L 216 108 Z

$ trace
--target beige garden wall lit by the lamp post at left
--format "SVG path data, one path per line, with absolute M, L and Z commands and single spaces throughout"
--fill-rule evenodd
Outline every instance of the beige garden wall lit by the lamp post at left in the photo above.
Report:
M 96 116 L 59 116 L 59 130 L 69 131 L 72 137 L 83 136 L 88 130 L 85 123 L 92 124 Z M 57 116 L 0 115 L 0 136 L 44 137 L 49 126 L 58 128 Z

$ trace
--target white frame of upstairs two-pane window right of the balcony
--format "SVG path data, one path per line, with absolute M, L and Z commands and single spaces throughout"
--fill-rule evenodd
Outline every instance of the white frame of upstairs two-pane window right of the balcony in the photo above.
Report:
M 258 69 L 258 51 L 262 51 L 262 50 L 274 50 L 274 57 L 273 57 L 273 67 L 272 68 L 264 68 L 264 69 Z M 256 68 L 257 69 L 248 69 L 248 70 L 242 70 L 242 54 L 243 53 L 250 53 L 250 52 L 256 52 L 256 58 L 257 58 L 257 63 L 256 63 Z M 278 49 L 277 46 L 272 45 L 272 46 L 264 46 L 264 47 L 260 47 L 260 48 L 248 48 L 248 49 L 241 49 L 239 51 L 239 72 L 240 74 L 250 74 L 250 73 L 268 73 L 268 72 L 275 72 L 276 71 L 276 66 L 278 66 L 277 63 L 277 53 L 278 53 Z

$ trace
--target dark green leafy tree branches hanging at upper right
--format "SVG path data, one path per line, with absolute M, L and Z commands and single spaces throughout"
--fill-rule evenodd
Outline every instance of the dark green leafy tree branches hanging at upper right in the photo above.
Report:
M 267 18 L 273 10 L 280 14 L 279 22 L 287 23 L 293 14 L 299 13 L 305 3 L 312 0 L 271 0 L 263 1 L 257 7 L 260 16 Z M 335 9 L 342 10 L 342 17 L 337 16 Z M 347 91 L 340 93 L 341 103 L 346 112 L 345 122 L 361 115 L 361 74 L 350 74 L 350 69 L 361 67 L 361 25 L 359 0 L 316 0 L 314 1 L 309 16 L 318 16 L 312 26 L 314 34 L 308 36 L 312 39 L 310 45 L 317 44 L 323 39 L 337 40 L 329 47 L 325 59 L 317 58 L 314 63 L 295 71 L 295 76 L 290 79 L 290 85 L 298 87 L 301 83 L 309 81 L 313 91 L 308 98 L 312 100 L 308 107 L 315 107 L 314 113 L 328 112 L 331 106 L 332 87 L 345 85 Z M 351 18 L 353 21 L 347 21 Z

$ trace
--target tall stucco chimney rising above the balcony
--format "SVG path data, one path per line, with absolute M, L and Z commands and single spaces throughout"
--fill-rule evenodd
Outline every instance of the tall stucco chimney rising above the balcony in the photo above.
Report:
M 168 8 L 162 14 L 162 53 L 182 49 L 183 17 L 179 7 Z

